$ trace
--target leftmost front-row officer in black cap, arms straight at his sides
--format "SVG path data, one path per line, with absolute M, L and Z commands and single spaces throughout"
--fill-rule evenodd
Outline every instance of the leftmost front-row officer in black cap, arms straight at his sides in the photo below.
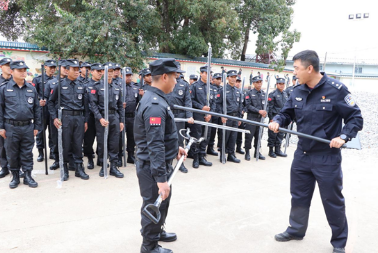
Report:
M 36 89 L 25 81 L 29 68 L 24 61 L 10 64 L 12 79 L 0 87 L 0 135 L 5 139 L 8 169 L 13 178 L 11 189 L 20 184 L 20 166 L 24 184 L 37 187 L 33 170 L 34 136 L 41 130 L 41 107 Z

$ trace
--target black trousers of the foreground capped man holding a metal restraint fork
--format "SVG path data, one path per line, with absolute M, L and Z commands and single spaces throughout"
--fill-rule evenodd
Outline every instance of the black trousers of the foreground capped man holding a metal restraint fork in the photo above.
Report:
M 163 154 L 164 155 L 164 154 Z M 166 163 L 167 172 L 171 174 L 173 168 L 171 162 Z M 143 204 L 141 210 L 148 204 L 155 203 L 156 199 L 159 197 L 159 188 L 153 176 L 151 175 L 150 162 L 137 160 L 136 162 L 136 172 L 139 180 L 140 195 L 143 198 Z M 172 186 L 171 192 L 166 200 L 164 200 L 159 208 L 161 219 L 158 224 L 153 223 L 147 216 L 141 212 L 141 234 L 144 241 L 157 242 L 160 239 L 160 233 L 162 230 L 162 225 L 165 223 L 165 219 L 168 215 L 169 202 L 172 196 Z

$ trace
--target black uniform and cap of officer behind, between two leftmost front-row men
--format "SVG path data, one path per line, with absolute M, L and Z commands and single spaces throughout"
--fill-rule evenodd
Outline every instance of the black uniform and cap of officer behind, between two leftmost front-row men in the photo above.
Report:
M 56 67 L 56 61 L 55 60 L 47 60 L 45 61 L 45 66 L 47 67 Z M 55 77 L 54 76 L 48 76 L 45 74 L 44 76 L 44 86 L 46 86 L 46 83 L 48 81 L 51 81 L 52 79 L 54 79 Z M 38 100 L 40 99 L 43 99 L 45 97 L 45 94 L 43 94 L 43 91 L 42 91 L 42 75 L 39 75 L 37 77 L 35 77 L 32 81 L 32 84 L 33 86 L 35 87 L 35 89 L 37 90 L 37 93 L 38 93 Z M 43 110 L 43 114 L 44 114 L 44 118 L 42 119 L 42 110 Z M 49 129 L 49 135 L 48 135 L 48 138 L 49 138 L 49 148 L 50 148 L 50 157 L 51 158 L 54 158 L 54 154 L 53 154 L 53 150 L 54 150 L 54 142 L 52 140 L 52 135 L 51 135 L 51 128 L 50 128 L 50 114 L 49 114 L 49 110 L 47 108 L 47 101 L 46 101 L 46 105 L 43 106 L 41 108 L 41 119 L 44 121 L 44 125 L 45 125 L 45 131 L 46 129 L 48 128 Z M 37 158 L 37 161 L 38 162 L 42 162 L 44 160 L 44 156 L 43 156 L 43 149 L 44 149 L 44 144 L 43 144 L 43 131 L 39 131 L 36 138 L 35 138 L 35 141 L 36 141 L 36 146 L 37 146 L 37 149 L 38 149 L 38 158 Z M 46 152 L 46 150 L 45 150 Z

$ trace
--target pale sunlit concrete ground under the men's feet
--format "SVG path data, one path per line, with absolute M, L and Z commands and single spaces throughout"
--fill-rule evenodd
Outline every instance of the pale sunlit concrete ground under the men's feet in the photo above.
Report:
M 265 143 L 263 147 L 267 156 Z M 288 225 L 294 148 L 288 149 L 288 158 L 267 156 L 259 162 L 243 159 L 240 164 L 222 165 L 209 157 L 214 165 L 199 169 L 193 169 L 188 159 L 189 173 L 179 172 L 173 183 L 166 226 L 178 240 L 161 245 L 176 253 L 332 252 L 318 189 L 305 239 L 286 243 L 273 239 Z M 347 252 L 378 252 L 378 160 L 359 159 L 359 152 L 343 156 Z M 139 252 L 142 200 L 133 165 L 120 169 L 124 179 L 100 178 L 99 167 L 87 170 L 88 181 L 71 172 L 62 188 L 56 187 L 59 172 L 46 176 L 43 166 L 35 163 L 36 189 L 21 184 L 11 190 L 10 177 L 0 179 L 0 252 Z

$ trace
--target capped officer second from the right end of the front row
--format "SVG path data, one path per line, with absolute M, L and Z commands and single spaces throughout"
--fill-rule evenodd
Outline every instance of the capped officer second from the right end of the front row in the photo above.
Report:
M 244 108 L 247 112 L 247 119 L 253 120 L 253 121 L 260 121 L 261 117 L 266 117 L 267 112 L 264 110 L 264 103 L 265 103 L 265 92 L 261 90 L 262 86 L 262 79 L 260 76 L 255 76 L 252 79 L 254 89 L 250 90 L 245 97 L 244 100 Z M 256 157 L 257 153 L 257 142 L 259 138 L 259 130 L 260 127 L 253 126 L 250 124 L 246 125 L 246 129 L 250 131 L 250 133 L 245 134 L 245 160 L 249 161 L 251 160 L 251 155 L 249 153 L 249 150 L 252 148 L 252 138 L 255 138 L 254 140 L 254 147 L 255 147 L 255 154 L 254 157 Z M 261 136 L 262 138 L 262 136 Z M 265 157 L 259 152 L 259 159 L 265 160 Z

